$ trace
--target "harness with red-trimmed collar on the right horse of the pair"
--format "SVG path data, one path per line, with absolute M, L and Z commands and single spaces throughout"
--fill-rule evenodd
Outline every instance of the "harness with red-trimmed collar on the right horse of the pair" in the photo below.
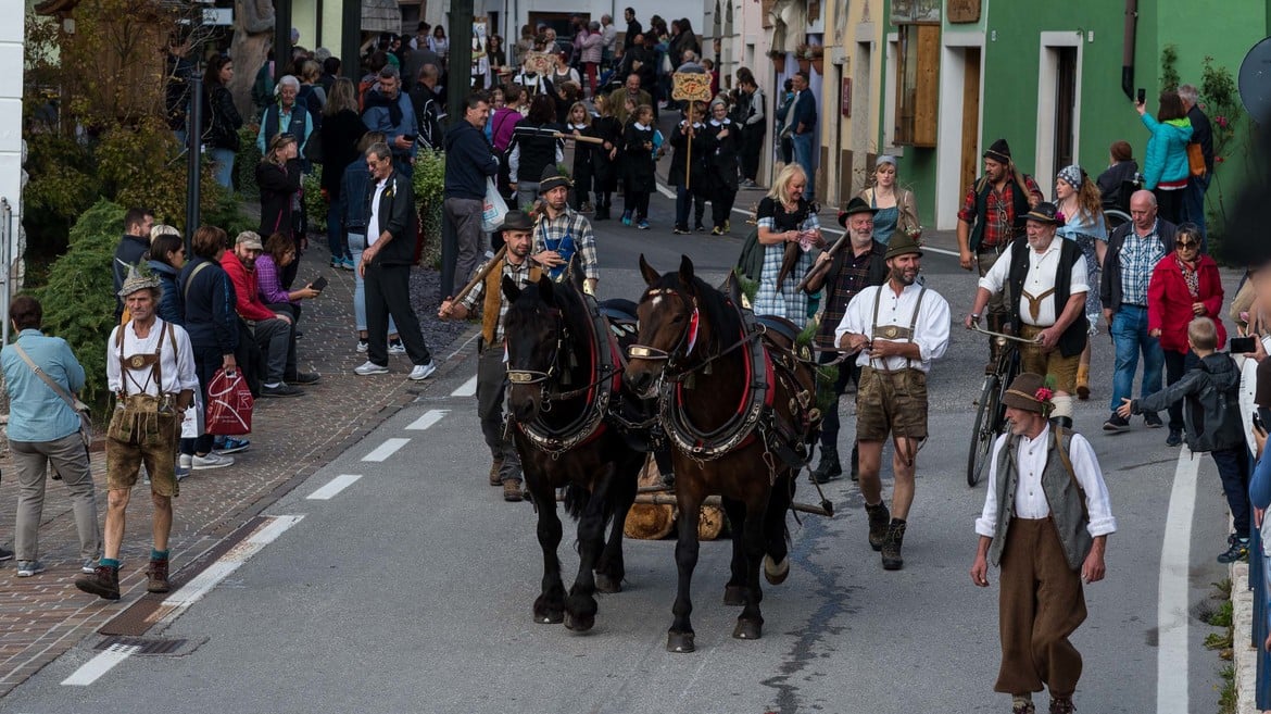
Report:
M 681 367 L 697 346 L 700 315 L 697 299 L 685 300 L 674 288 L 652 288 L 646 297 L 675 296 L 693 307 L 689 325 L 669 352 L 648 346 L 633 344 L 629 354 L 641 360 L 666 361 L 662 384 L 658 387 L 661 422 L 666 436 L 676 448 L 700 462 L 713 461 L 760 438 L 764 445 L 764 461 L 770 479 L 777 479 L 777 459 L 791 469 L 802 469 L 811 457 L 806 446 L 806 436 L 820 422 L 820 410 L 810 408 L 811 394 L 802 390 L 796 371 L 802 365 L 811 365 L 811 352 L 777 349 L 777 344 L 766 339 L 770 327 L 755 318 L 750 310 L 741 309 L 732 300 L 724 299 L 728 306 L 737 310 L 742 328 L 737 342 L 707 357 L 694 367 Z M 684 393 L 695 387 L 694 376 L 698 372 L 710 374 L 712 365 L 735 349 L 745 349 L 745 391 L 737 405 L 737 412 L 723 426 L 709 432 L 697 428 L 685 413 Z M 794 396 L 789 410 L 797 424 L 780 419 L 774 408 L 777 384 L 780 381 Z M 775 459 L 774 459 L 775 456 Z

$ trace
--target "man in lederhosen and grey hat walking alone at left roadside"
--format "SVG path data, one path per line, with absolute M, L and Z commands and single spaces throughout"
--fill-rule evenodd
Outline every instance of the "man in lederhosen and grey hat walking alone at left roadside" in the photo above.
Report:
M 111 330 L 105 376 L 117 403 L 105 433 L 105 549 L 92 576 L 75 587 L 105 600 L 119 598 L 119 546 L 125 512 L 145 464 L 154 502 L 154 546 L 146 569 L 149 592 L 168 592 L 168 534 L 177 485 L 180 414 L 194 400 L 198 376 L 184 328 L 160 320 L 159 278 L 135 269 L 119 290 L 132 319 Z

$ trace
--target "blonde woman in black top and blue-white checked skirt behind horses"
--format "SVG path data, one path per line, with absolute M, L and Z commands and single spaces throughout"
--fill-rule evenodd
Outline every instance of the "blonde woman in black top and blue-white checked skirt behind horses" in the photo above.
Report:
M 807 323 L 807 293 L 796 290 L 812 267 L 812 248 L 824 245 L 821 224 L 812 205 L 803 198 L 807 174 L 798 164 L 787 164 L 759 202 L 759 244 L 764 264 L 755 295 L 756 315 L 779 315 L 799 329 Z

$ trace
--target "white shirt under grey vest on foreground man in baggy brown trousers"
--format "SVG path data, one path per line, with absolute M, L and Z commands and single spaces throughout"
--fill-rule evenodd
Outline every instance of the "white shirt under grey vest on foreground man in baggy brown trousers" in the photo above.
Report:
M 989 460 L 989 493 L 984 499 L 984 512 L 975 520 L 975 532 L 993 537 L 998 527 L 998 456 L 1005 446 L 1009 433 L 998 437 L 993 445 L 993 456 Z M 1037 438 L 1027 436 L 1019 438 L 1019 451 L 1016 454 L 1016 465 L 1019 469 L 1019 480 L 1016 487 L 1016 517 L 1038 520 L 1050 516 L 1050 503 L 1046 501 L 1046 492 L 1041 488 L 1041 474 L 1046 469 L 1046 456 L 1050 454 L 1050 424 L 1046 424 L 1037 434 Z M 1056 456 L 1057 457 L 1057 456 Z M 1103 471 L 1099 469 L 1099 460 L 1094 456 L 1094 448 L 1079 433 L 1071 434 L 1068 442 L 1068 459 L 1073 462 L 1073 471 L 1077 474 L 1077 483 L 1085 490 L 1085 509 L 1091 513 L 1091 522 L 1085 531 L 1092 537 L 1116 532 L 1116 518 L 1112 517 L 1112 502 L 1108 498 L 1108 488 L 1103 483 Z

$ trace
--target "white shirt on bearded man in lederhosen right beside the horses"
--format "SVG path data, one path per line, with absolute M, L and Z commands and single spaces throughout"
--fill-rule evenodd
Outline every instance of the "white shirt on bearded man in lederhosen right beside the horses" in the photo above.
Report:
M 923 295 L 923 304 L 918 305 L 918 293 L 923 286 L 916 282 L 905 286 L 905 290 L 896 295 L 891 287 L 891 281 L 881 286 L 869 286 L 858 292 L 850 302 L 848 311 L 834 330 L 834 343 L 839 344 L 846 333 L 863 334 L 871 340 L 876 338 L 871 332 L 873 327 L 874 296 L 878 296 L 878 327 L 897 325 L 909 328 L 914 323 L 914 342 L 918 344 L 918 353 L 921 360 L 906 360 L 904 357 L 869 357 L 862 349 L 857 357 L 857 365 L 862 367 L 874 367 L 882 370 L 904 370 L 913 367 L 929 372 L 932 361 L 944 356 L 949 346 L 949 304 L 944 301 L 934 290 L 928 288 Z M 914 307 L 919 307 L 918 320 L 914 321 Z M 906 342 L 897 339 L 895 342 Z

